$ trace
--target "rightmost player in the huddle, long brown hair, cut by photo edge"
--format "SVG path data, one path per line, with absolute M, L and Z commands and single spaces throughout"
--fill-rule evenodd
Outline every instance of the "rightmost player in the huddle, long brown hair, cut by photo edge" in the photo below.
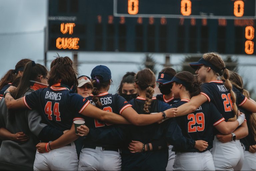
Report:
M 243 88 L 243 79 L 235 72 L 230 72 L 230 82 L 248 99 L 250 94 Z M 248 136 L 240 139 L 245 146 L 244 164 L 242 170 L 256 170 L 256 113 L 245 110 L 247 118 Z

